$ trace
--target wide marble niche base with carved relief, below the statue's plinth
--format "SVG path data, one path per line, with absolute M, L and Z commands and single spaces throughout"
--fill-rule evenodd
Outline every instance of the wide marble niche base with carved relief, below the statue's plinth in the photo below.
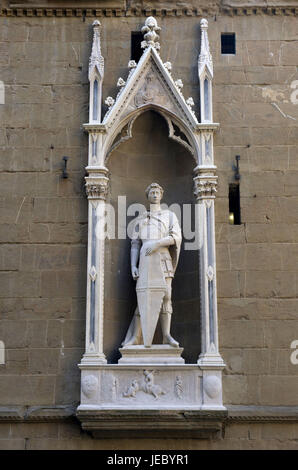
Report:
M 99 438 L 216 439 L 222 435 L 227 410 L 221 401 L 221 372 L 202 371 L 198 364 L 181 362 L 123 363 L 136 357 L 139 361 L 154 358 L 152 348 L 144 348 L 145 352 L 140 347 L 136 352 L 135 346 L 123 349 L 119 364 L 80 365 L 77 417 L 83 429 Z M 155 359 L 183 361 L 179 349 L 163 347 Z M 211 377 L 206 376 L 204 389 L 206 373 Z

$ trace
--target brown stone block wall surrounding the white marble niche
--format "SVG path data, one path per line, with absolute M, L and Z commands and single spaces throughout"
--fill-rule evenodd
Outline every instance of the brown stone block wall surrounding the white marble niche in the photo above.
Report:
M 290 344 L 297 320 L 297 19 L 268 13 L 210 16 L 214 121 L 219 337 L 227 363 L 224 403 L 297 406 L 298 365 Z M 161 55 L 198 103 L 199 16 L 160 16 Z M 85 335 L 87 66 L 94 18 L 0 17 L 0 403 L 72 406 L 79 401 Z M 126 77 L 130 33 L 144 16 L 103 16 L 104 98 Z M 236 33 L 236 55 L 220 33 Z M 296 54 L 296 55 L 295 55 Z M 292 97 L 292 100 L 291 100 Z M 295 97 L 294 97 L 295 98 Z M 198 110 L 198 106 L 196 106 Z M 120 148 L 119 148 L 120 151 Z M 228 185 L 240 160 L 242 224 L 228 224 Z M 69 156 L 69 178 L 61 179 Z M 5 413 L 4 413 L 5 414 Z M 26 414 L 26 413 L 25 413 Z M 240 423 L 240 422 L 239 422 Z M 292 448 L 297 424 L 230 423 L 224 440 L 184 448 Z M 4 448 L 134 448 L 95 441 L 66 423 L 0 427 Z M 278 440 L 277 440 L 278 439 Z M 139 441 L 140 448 L 178 444 Z M 179 445 L 181 441 L 179 441 Z M 126 446 L 126 447 L 125 447 Z M 116 448 L 115 447 L 115 448 Z

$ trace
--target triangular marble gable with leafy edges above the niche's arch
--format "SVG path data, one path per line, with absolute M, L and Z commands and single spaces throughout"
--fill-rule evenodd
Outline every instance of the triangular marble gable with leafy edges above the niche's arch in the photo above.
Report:
M 178 116 L 186 126 L 196 128 L 198 125 L 192 110 L 193 100 L 185 100 L 181 88 L 182 81 L 174 81 L 169 62 L 163 63 L 156 48 L 149 45 L 136 64 L 129 62 L 130 72 L 126 82 L 118 79 L 120 91 L 114 101 L 106 99 L 110 104 L 102 124 L 111 129 L 126 116 L 141 109 L 143 106 L 154 105 L 170 114 Z

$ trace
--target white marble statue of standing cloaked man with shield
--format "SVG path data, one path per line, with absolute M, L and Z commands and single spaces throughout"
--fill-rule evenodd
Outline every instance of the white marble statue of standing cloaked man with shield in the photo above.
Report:
M 163 344 L 178 347 L 170 334 L 172 279 L 175 274 L 181 229 L 176 215 L 162 210 L 163 188 L 152 183 L 146 189 L 150 210 L 135 219 L 131 240 L 131 272 L 136 283 L 138 305 L 122 346 L 151 347 L 160 318 Z

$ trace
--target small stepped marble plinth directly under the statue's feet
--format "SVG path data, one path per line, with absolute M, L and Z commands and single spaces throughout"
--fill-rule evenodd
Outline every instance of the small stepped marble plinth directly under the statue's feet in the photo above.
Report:
M 154 344 L 150 348 L 143 345 L 124 346 L 119 349 L 121 358 L 118 364 L 134 365 L 162 365 L 162 364 L 184 364 L 181 357 L 183 348 L 173 348 L 168 344 Z

